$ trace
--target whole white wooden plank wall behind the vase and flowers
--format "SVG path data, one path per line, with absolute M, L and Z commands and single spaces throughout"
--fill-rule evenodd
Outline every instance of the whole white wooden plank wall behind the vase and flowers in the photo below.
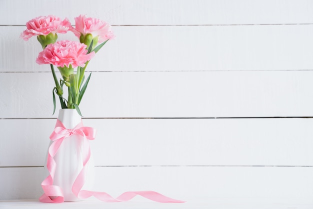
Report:
M 0 0 L 0 199 L 42 193 L 53 80 L 19 34 L 47 14 L 116 34 L 81 103 L 95 190 L 312 201 L 312 0 Z

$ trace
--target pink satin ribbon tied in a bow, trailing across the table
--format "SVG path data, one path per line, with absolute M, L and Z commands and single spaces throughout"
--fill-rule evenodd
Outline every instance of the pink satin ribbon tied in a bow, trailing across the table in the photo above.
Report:
M 39 197 L 39 201 L 41 202 L 52 202 L 52 203 L 60 203 L 64 202 L 63 190 L 60 186 L 53 185 L 53 177 L 55 173 L 56 163 L 53 159 L 55 153 L 57 152 L 59 146 L 61 145 L 64 138 L 72 135 L 78 134 L 83 136 L 84 140 L 84 148 L 82 152 L 82 164 L 83 167 L 77 175 L 74 183 L 72 185 L 72 192 L 77 198 L 88 198 L 90 196 L 94 196 L 99 200 L 107 201 L 107 202 L 121 202 L 128 201 L 132 199 L 136 195 L 143 196 L 147 199 L 157 201 L 157 202 L 184 202 L 177 199 L 172 199 L 170 197 L 164 196 L 155 191 L 126 191 L 119 195 L 116 198 L 113 198 L 106 192 L 98 192 L 98 191 L 88 191 L 81 190 L 85 176 L 87 164 L 90 158 L 90 146 L 88 140 L 93 140 L 95 138 L 95 129 L 92 127 L 83 126 L 82 120 L 79 124 L 76 125 L 73 129 L 66 129 L 66 127 L 62 124 L 60 120 L 56 120 L 55 128 L 50 135 L 50 139 L 53 141 L 48 149 L 47 156 L 47 169 L 49 171 L 49 175 L 41 182 L 41 187 L 44 193 Z M 54 198 L 52 199 L 51 196 Z

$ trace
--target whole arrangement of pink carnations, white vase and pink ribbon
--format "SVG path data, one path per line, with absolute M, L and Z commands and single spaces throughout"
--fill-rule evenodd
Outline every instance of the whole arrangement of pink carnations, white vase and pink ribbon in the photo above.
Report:
M 50 135 L 46 168 L 48 176 L 41 182 L 44 193 L 41 202 L 59 203 L 75 201 L 94 196 L 102 201 L 128 201 L 136 195 L 158 202 L 183 202 L 172 199 L 155 191 L 126 191 L 116 198 L 106 192 L 90 190 L 86 182 L 93 168 L 88 140 L 95 138 L 95 129 L 83 126 L 79 103 L 88 85 L 90 75 L 84 81 L 86 66 L 94 54 L 114 37 L 111 26 L 96 18 L 85 15 L 75 17 L 75 27 L 67 18 L 49 15 L 39 16 L 26 23 L 27 29 L 21 38 L 28 40 L 37 36 L 42 46 L 36 62 L 50 64 L 55 86 L 53 87 L 53 113 L 55 111 L 55 94 L 59 97 L 62 109 Z M 57 33 L 73 32 L 78 41 L 56 41 Z M 54 66 L 60 71 L 58 80 Z M 77 67 L 76 72 L 74 68 Z M 68 89 L 67 99 L 63 96 L 63 87 Z M 91 170 L 92 172 L 92 170 Z M 92 183 L 91 183 L 92 184 Z M 92 186 L 92 185 L 91 185 Z

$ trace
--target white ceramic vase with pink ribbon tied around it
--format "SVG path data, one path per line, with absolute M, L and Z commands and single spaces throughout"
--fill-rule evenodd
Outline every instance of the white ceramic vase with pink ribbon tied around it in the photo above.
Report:
M 81 117 L 75 109 L 60 109 L 58 113 L 60 120 L 67 129 L 73 129 L 80 121 Z M 52 141 L 50 141 L 50 144 Z M 83 136 L 73 134 L 65 137 L 54 155 L 56 163 L 53 185 L 58 185 L 63 189 L 64 201 L 77 201 L 78 199 L 71 191 L 74 180 L 83 167 L 82 160 Z M 49 174 L 47 169 L 46 174 Z M 94 163 L 92 154 L 90 155 L 87 175 L 82 189 L 91 190 L 94 176 Z

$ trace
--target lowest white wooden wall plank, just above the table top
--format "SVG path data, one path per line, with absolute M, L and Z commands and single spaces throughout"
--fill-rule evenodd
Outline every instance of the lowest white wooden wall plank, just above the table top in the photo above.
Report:
M 154 190 L 177 199 L 270 198 L 312 203 L 312 167 L 96 167 L 94 190 Z M 42 167 L 0 168 L 0 199 L 37 199 Z M 41 177 L 40 177 L 41 176 Z M 287 199 L 287 202 L 281 200 Z

